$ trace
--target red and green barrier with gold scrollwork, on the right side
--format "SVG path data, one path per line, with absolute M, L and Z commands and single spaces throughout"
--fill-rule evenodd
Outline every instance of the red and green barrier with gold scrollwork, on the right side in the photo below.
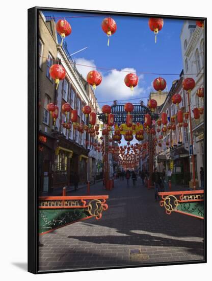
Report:
M 165 207 L 166 213 L 172 212 L 204 219 L 204 191 L 172 191 L 159 192 L 162 197 L 160 206 Z

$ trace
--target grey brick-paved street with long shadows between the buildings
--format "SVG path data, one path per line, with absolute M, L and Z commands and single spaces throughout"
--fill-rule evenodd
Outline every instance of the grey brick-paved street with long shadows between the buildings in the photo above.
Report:
M 39 269 L 202 260 L 203 220 L 166 215 L 154 200 L 154 190 L 139 182 L 133 187 L 130 181 L 127 188 L 126 180 L 117 179 L 112 191 L 105 191 L 102 182 L 91 185 L 91 195 L 109 195 L 108 210 L 100 220 L 77 222 L 41 236 Z M 85 194 L 86 189 L 71 192 Z

